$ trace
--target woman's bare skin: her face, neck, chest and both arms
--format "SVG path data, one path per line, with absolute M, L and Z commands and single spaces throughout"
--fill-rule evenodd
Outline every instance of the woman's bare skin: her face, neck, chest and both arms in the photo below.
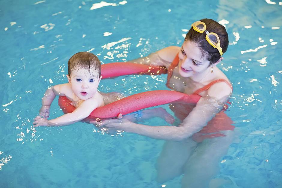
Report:
M 213 80 L 228 80 L 225 74 L 216 67 L 221 58 L 210 65 L 210 62 L 202 56 L 197 45 L 190 41 L 184 41 L 182 47 L 167 47 L 150 54 L 148 57 L 133 60 L 133 62 L 169 67 L 177 54 L 179 64 L 173 70 L 170 80 L 170 87 L 176 91 L 192 94 Z M 212 73 L 211 67 L 213 68 Z M 201 99 L 179 126 L 148 126 L 126 119 L 105 120 L 101 126 L 121 129 L 155 139 L 182 141 L 202 129 L 220 111 L 230 94 L 231 88 L 224 82 L 216 83 L 208 90 L 199 93 Z

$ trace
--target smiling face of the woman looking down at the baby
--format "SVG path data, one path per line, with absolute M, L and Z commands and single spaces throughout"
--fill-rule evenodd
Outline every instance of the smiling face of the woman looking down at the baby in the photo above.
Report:
M 179 74 L 183 77 L 200 76 L 210 65 L 208 60 L 203 59 L 202 51 L 190 41 L 184 41 L 178 56 Z

